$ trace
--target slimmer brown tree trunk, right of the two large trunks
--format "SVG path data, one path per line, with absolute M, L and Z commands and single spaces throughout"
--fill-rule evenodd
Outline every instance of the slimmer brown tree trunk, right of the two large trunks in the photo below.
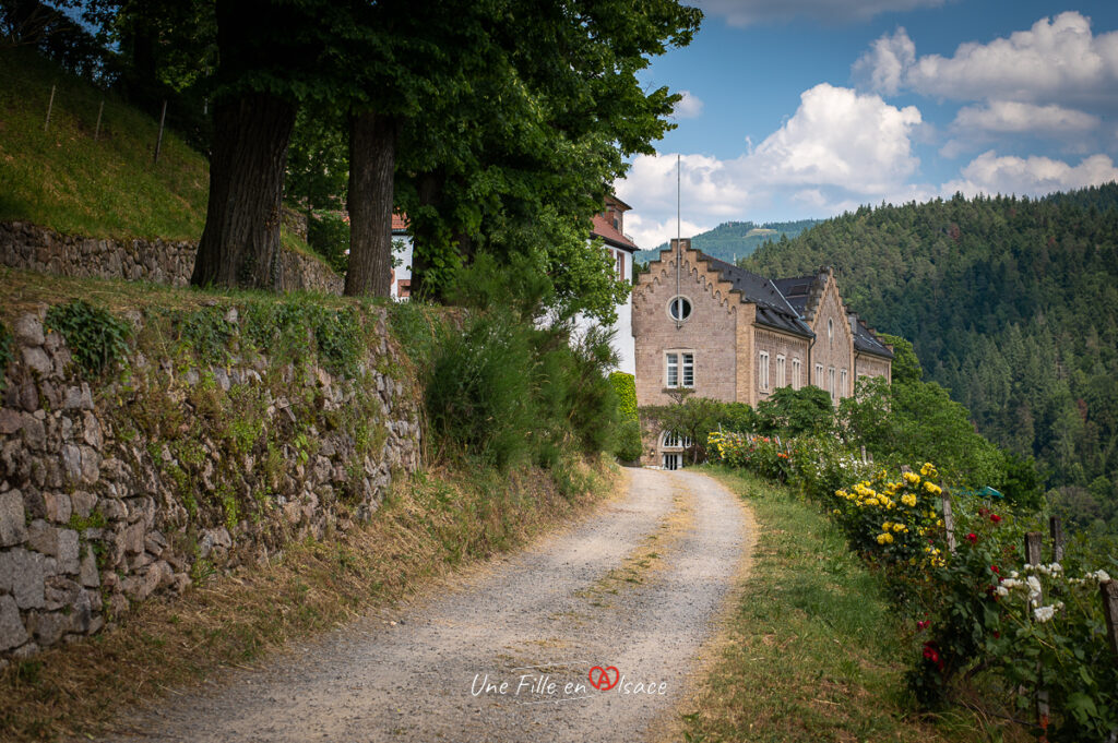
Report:
M 395 120 L 370 112 L 351 116 L 347 296 L 390 294 L 395 171 Z

